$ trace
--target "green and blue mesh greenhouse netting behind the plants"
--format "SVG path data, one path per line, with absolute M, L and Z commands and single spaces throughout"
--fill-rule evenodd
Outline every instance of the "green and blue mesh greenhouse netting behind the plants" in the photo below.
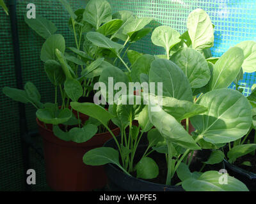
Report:
M 120 10 L 132 11 L 138 17 L 154 17 L 150 27 L 170 25 L 179 33 L 186 31 L 186 20 L 191 11 L 202 8 L 207 11 L 215 25 L 214 47 L 212 55 L 221 56 L 237 43 L 245 40 L 256 40 L 256 4 L 255 0 L 108 0 L 113 13 Z M 5 1 L 8 4 L 8 1 Z M 84 8 L 86 1 L 69 0 L 72 8 Z M 67 47 L 70 45 L 72 34 L 68 29 L 69 15 L 58 0 L 29 0 L 17 1 L 17 18 L 19 28 L 20 53 L 22 62 L 22 77 L 24 84 L 33 82 L 42 94 L 42 99 L 51 101 L 54 98 L 52 86 L 45 86 L 48 79 L 40 61 L 40 49 L 44 40 L 29 29 L 24 22 L 27 4 L 36 5 L 36 13 L 51 20 L 58 33 L 65 37 Z M 15 87 L 15 71 L 12 47 L 10 18 L 0 12 L 0 87 Z M 164 50 L 156 47 L 150 40 L 150 35 L 132 45 L 133 50 L 147 54 L 162 54 Z M 244 85 L 244 96 L 250 94 L 252 85 L 256 82 L 255 73 L 244 73 L 241 85 Z M 231 89 L 235 85 L 230 86 Z M 12 99 L 6 98 L 0 92 L 0 190 L 20 191 L 24 189 L 23 164 L 20 149 L 18 105 Z M 26 118 L 29 130 L 36 129 L 35 108 L 26 105 Z M 37 139 L 41 143 L 40 138 Z M 31 166 L 38 173 L 38 185 L 35 190 L 45 188 L 44 162 L 39 161 L 33 150 Z

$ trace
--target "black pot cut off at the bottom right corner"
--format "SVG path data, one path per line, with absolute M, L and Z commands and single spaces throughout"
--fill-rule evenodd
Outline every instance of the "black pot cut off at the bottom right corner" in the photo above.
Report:
M 225 167 L 228 173 L 236 179 L 241 180 L 250 191 L 256 191 L 256 173 L 243 170 L 234 164 L 230 164 L 228 161 L 224 160 Z

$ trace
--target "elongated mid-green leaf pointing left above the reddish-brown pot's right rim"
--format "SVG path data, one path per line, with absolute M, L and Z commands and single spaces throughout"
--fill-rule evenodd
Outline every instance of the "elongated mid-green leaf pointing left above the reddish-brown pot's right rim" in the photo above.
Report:
M 108 126 L 108 121 L 114 117 L 102 106 L 94 103 L 71 102 L 70 105 L 74 110 L 99 120 L 104 126 Z

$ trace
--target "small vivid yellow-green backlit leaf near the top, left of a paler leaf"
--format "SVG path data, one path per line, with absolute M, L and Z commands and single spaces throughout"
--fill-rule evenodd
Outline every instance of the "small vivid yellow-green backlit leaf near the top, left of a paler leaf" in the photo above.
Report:
M 122 24 L 123 21 L 120 19 L 110 20 L 109 22 L 106 22 L 106 24 L 101 25 L 97 32 L 104 34 L 104 36 L 109 36 L 111 34 L 116 33 L 116 31 L 120 29 Z

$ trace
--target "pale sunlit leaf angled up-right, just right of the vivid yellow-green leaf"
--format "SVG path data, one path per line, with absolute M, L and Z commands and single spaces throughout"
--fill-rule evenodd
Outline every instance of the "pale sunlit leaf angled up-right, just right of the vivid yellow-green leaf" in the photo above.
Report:
M 127 34 L 131 38 L 132 34 L 143 29 L 152 20 L 153 18 L 150 17 L 136 18 L 132 20 L 132 22 L 129 22 L 129 24 L 125 25 L 123 33 Z

